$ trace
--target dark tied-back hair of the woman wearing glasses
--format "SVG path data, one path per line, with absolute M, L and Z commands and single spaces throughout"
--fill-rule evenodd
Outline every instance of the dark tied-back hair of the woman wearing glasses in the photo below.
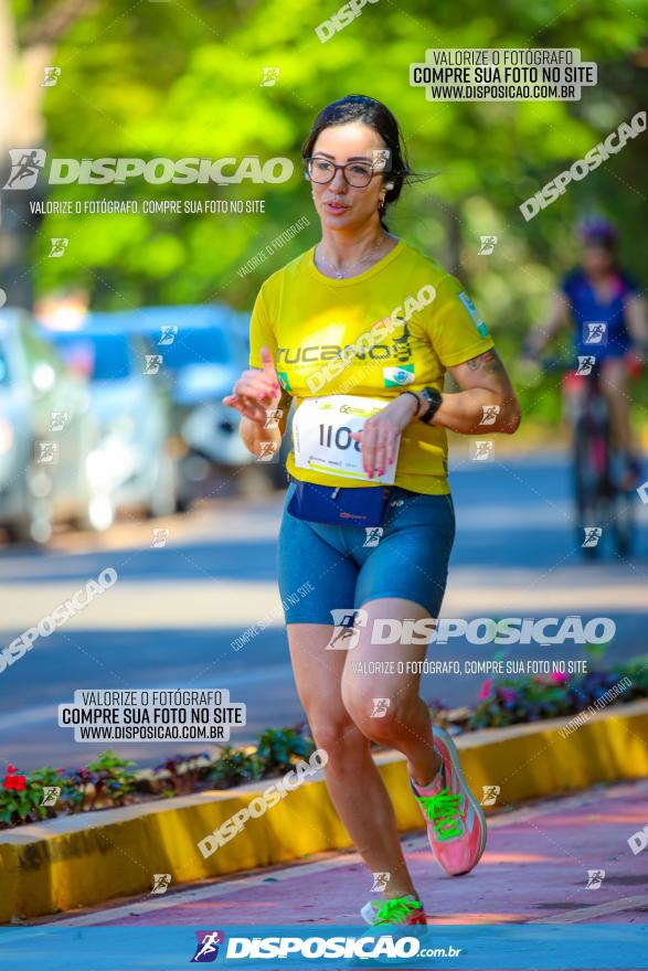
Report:
M 348 95 L 338 102 L 332 102 L 319 113 L 312 124 L 306 141 L 301 148 L 301 156 L 308 159 L 312 156 L 312 149 L 325 128 L 333 125 L 349 125 L 350 122 L 368 125 L 376 131 L 390 150 L 390 166 L 385 169 L 385 180 L 393 183 L 393 189 L 387 189 L 384 205 L 380 210 L 380 224 L 383 230 L 387 228 L 384 221 L 387 205 L 396 202 L 405 181 L 414 173 L 407 162 L 405 142 L 399 127 L 399 122 L 390 109 L 364 95 Z

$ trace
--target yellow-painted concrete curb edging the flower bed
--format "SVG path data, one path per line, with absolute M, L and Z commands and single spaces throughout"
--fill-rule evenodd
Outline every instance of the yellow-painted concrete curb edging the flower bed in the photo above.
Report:
M 501 809 L 595 782 L 648 776 L 648 701 L 597 713 L 562 737 L 560 729 L 570 721 L 460 736 L 457 745 L 470 788 L 480 793 L 482 786 L 499 786 L 497 808 Z M 399 830 L 421 830 L 403 757 L 385 753 L 376 762 L 394 802 Z M 177 886 L 351 844 L 320 773 L 264 815 L 249 819 L 243 832 L 205 860 L 198 842 L 273 781 L 0 832 L 0 921 L 147 894 L 156 873 L 170 873 Z

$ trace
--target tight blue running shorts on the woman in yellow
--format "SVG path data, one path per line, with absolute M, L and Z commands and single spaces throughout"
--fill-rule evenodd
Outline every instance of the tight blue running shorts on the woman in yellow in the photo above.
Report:
M 333 623 L 331 610 L 380 597 L 421 604 L 438 617 L 455 538 L 449 494 L 393 488 L 380 527 L 330 526 L 287 512 L 279 531 L 279 591 L 286 623 Z M 382 533 L 381 533 L 382 530 Z

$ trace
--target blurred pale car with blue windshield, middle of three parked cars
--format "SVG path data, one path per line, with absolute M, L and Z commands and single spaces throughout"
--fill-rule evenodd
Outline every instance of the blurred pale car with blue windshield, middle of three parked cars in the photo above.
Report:
M 153 516 L 176 510 L 177 469 L 167 442 L 169 409 L 155 354 L 137 334 L 115 330 L 113 314 L 92 313 L 78 330 L 46 330 L 71 374 L 87 381 L 93 426 L 79 474 L 59 491 L 56 514 L 107 529 L 125 508 Z

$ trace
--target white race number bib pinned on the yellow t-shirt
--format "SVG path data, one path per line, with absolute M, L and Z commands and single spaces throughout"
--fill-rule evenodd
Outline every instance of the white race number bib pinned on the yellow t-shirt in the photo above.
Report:
M 376 486 L 381 482 L 393 484 L 401 436 L 396 439 L 393 465 L 385 469 L 381 478 L 374 476 L 373 479 L 369 479 L 362 468 L 360 442 L 351 438 L 353 431 L 361 431 L 367 419 L 386 405 L 389 402 L 357 395 L 306 398 L 297 408 L 293 422 L 297 468 L 346 479 L 361 479 Z

